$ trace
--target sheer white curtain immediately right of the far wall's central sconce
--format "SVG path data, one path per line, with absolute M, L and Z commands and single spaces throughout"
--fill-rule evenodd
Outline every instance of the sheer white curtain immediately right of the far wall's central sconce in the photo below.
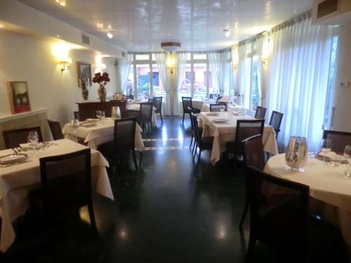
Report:
M 178 90 L 182 86 L 183 75 L 185 73 L 185 66 L 187 65 L 187 53 L 177 53 L 175 60 L 175 69 L 173 73 L 174 77 L 174 93 L 173 93 L 173 115 L 180 115 L 180 101 L 178 97 Z

